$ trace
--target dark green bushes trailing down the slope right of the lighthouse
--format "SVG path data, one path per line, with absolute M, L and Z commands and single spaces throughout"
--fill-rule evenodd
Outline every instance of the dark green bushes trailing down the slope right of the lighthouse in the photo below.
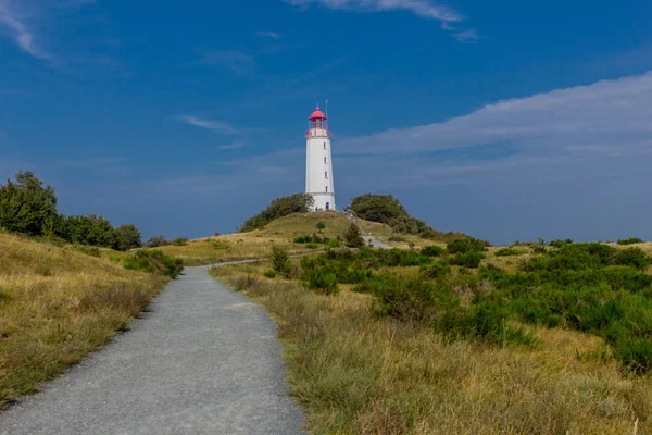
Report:
M 462 233 L 441 233 L 424 221 L 413 217 L 391 195 L 366 194 L 351 200 L 350 209 L 360 219 L 389 225 L 396 233 L 412 234 L 430 240 L 448 243 L 465 237 Z

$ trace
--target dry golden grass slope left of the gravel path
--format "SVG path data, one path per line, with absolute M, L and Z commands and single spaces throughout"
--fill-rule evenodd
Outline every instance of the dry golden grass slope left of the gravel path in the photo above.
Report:
M 167 283 L 124 270 L 116 252 L 2 233 L 0 247 L 0 406 L 106 343 Z

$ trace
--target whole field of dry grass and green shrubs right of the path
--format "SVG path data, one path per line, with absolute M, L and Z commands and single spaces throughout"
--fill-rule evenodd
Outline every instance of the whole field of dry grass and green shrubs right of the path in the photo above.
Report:
M 212 274 L 278 320 L 314 433 L 649 433 L 652 245 L 487 245 Z

